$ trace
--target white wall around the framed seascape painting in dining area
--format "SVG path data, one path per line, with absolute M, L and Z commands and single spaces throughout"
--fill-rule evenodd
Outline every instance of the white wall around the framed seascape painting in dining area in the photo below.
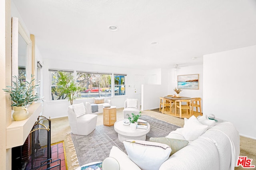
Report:
M 202 112 L 204 112 L 203 109 L 203 80 L 204 80 L 204 74 L 203 74 L 203 65 L 194 65 L 194 66 L 184 66 L 180 67 L 176 71 L 174 68 L 170 69 L 168 71 L 168 94 L 176 94 L 173 89 L 178 87 L 178 75 L 186 75 L 186 74 L 199 74 L 199 89 L 183 89 L 182 92 L 180 92 L 180 96 L 186 96 L 190 98 L 202 98 L 201 105 L 202 105 Z M 194 107 L 194 110 L 196 108 Z

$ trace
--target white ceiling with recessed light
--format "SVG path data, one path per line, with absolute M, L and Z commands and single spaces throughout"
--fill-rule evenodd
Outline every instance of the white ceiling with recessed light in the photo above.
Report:
M 202 64 L 203 55 L 256 45 L 256 0 L 13 2 L 44 58 L 170 68 Z M 110 31 L 110 25 L 118 29 Z

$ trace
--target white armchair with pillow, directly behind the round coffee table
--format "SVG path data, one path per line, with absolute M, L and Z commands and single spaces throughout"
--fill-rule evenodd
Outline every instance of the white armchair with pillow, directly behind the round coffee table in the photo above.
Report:
M 131 117 L 132 113 L 136 115 L 140 113 L 140 102 L 138 101 L 138 99 L 126 99 L 126 101 L 124 102 L 124 119 L 127 119 L 128 115 L 130 115 Z

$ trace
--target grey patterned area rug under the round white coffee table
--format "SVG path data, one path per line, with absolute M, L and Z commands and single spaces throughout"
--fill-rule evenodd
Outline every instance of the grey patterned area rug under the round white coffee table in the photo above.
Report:
M 148 115 L 142 115 L 140 119 L 150 124 L 150 132 L 146 135 L 146 141 L 149 141 L 150 137 L 165 137 L 171 131 L 180 128 Z M 80 166 L 90 162 L 103 161 L 109 156 L 112 146 L 116 146 L 126 153 L 124 144 L 118 140 L 114 126 L 99 125 L 88 136 L 71 133 L 71 137 Z

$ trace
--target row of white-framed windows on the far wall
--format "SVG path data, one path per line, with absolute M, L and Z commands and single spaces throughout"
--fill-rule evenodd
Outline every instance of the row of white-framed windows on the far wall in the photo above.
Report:
M 51 100 L 67 99 L 66 94 L 58 92 L 58 71 L 74 74 L 72 70 L 49 69 L 50 72 L 50 93 Z M 112 81 L 112 75 L 114 80 Z M 98 98 L 125 95 L 126 74 L 112 74 L 99 72 L 76 71 L 75 78 L 80 91 L 76 92 L 77 98 Z M 112 83 L 113 88 L 112 88 Z

